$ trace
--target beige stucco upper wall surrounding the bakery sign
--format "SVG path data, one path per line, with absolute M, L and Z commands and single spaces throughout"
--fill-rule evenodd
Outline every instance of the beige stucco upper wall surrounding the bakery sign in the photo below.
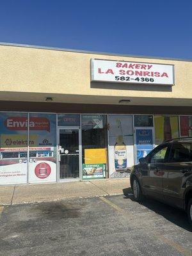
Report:
M 90 83 L 90 59 L 175 65 L 175 86 Z M 192 106 L 192 62 L 0 45 L 0 100 Z

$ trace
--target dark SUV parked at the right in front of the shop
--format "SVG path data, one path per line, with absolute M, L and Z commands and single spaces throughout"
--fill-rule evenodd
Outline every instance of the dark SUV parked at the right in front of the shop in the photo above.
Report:
M 131 170 L 136 201 L 143 195 L 188 212 L 192 225 L 192 138 L 178 138 L 157 146 Z

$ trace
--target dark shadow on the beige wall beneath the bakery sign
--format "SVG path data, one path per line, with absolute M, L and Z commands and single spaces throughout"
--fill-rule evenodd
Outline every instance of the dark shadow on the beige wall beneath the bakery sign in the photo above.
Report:
M 132 90 L 132 91 L 152 91 L 152 92 L 172 92 L 172 86 L 159 84 L 120 84 L 91 82 L 91 88 L 111 89 L 111 90 Z

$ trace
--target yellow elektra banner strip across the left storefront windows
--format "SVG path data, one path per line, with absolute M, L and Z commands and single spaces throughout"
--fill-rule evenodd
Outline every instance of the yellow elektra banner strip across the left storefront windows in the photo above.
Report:
M 37 143 L 38 134 L 30 135 L 29 146 L 34 147 Z M 27 134 L 1 134 L 1 148 L 28 147 Z

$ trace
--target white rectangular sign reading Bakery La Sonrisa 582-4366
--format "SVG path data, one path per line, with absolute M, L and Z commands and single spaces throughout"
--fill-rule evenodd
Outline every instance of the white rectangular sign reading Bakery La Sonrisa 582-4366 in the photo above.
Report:
M 92 81 L 174 84 L 173 65 L 92 59 L 91 68 Z

